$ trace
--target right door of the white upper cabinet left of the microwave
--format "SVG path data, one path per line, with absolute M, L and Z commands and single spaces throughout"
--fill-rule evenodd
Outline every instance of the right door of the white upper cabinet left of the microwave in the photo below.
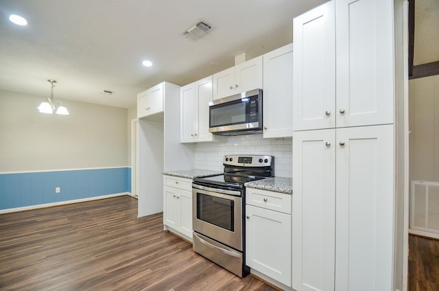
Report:
M 197 141 L 212 141 L 213 135 L 209 132 L 209 102 L 212 101 L 212 76 L 195 82 L 198 95 L 198 119 L 195 128 L 198 128 Z

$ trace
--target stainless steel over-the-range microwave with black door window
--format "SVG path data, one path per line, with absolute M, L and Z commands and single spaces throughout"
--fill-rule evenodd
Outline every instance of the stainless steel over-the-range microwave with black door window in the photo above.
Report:
M 209 132 L 247 135 L 262 132 L 262 89 L 209 102 Z

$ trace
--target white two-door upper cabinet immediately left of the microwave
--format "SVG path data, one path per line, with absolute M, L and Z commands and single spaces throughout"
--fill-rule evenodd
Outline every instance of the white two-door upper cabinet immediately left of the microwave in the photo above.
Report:
M 212 76 L 180 89 L 180 142 L 213 141 L 209 132 L 209 102 L 212 100 Z

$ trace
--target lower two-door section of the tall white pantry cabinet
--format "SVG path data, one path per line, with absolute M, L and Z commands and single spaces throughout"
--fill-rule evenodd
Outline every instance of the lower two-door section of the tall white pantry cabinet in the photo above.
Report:
M 294 132 L 292 288 L 392 290 L 394 126 Z

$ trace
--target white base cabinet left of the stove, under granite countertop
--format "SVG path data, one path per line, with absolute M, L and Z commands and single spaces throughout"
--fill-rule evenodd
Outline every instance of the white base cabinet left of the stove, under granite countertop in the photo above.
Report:
M 163 179 L 163 224 L 192 241 L 192 180 L 174 176 Z

